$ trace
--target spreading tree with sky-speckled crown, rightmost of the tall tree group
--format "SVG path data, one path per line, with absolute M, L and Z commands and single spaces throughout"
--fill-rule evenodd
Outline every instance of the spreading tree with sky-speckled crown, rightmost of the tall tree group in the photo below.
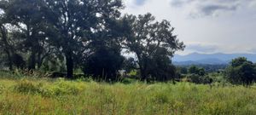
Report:
M 164 68 L 172 68 L 171 57 L 177 50 L 184 48 L 183 43 L 173 35 L 174 28 L 170 22 L 167 20 L 158 22 L 152 14 L 138 17 L 125 15 L 124 20 L 128 28 L 124 46 L 137 56 L 141 79 L 147 80 L 149 76 L 166 79 L 166 76 L 170 74 L 166 74 L 165 77 L 160 75 L 160 78 L 157 77 L 157 74 L 164 71 Z M 156 69 L 158 67 L 160 69 Z M 152 70 L 156 72 L 150 73 Z M 174 76 L 173 73 L 172 76 Z

